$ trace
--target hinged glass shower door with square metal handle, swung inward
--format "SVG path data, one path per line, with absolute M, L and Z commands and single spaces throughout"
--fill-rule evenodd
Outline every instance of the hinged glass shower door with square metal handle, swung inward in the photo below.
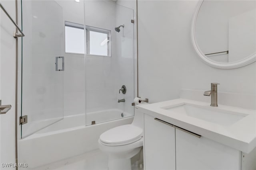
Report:
M 62 7 L 22 0 L 22 138 L 63 119 Z

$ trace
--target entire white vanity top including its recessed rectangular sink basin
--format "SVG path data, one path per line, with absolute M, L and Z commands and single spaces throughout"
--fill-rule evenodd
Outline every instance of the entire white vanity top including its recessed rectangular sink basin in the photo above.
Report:
M 139 111 L 230 146 L 250 153 L 256 146 L 256 110 L 219 105 L 189 99 L 174 99 L 137 105 Z

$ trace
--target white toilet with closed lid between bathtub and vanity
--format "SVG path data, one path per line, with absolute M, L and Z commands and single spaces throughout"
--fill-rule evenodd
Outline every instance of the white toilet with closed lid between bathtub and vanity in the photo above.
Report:
M 143 113 L 135 107 L 132 124 L 110 129 L 100 135 L 99 149 L 108 154 L 108 170 L 131 170 L 131 158 L 143 145 Z

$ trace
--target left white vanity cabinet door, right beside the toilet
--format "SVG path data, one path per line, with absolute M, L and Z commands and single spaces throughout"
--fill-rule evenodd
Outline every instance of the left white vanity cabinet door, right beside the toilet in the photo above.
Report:
M 144 115 L 145 170 L 175 170 L 175 129 Z

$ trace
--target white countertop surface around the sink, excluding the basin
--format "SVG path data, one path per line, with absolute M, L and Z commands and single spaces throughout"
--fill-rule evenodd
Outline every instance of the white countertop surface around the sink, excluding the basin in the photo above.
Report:
M 180 104 L 192 104 L 212 110 L 234 111 L 246 114 L 247 116 L 231 125 L 224 126 L 164 109 L 166 106 L 177 106 Z M 212 107 L 209 103 L 188 99 L 175 99 L 154 104 L 137 105 L 136 108 L 152 117 L 162 119 L 245 153 L 249 153 L 256 147 L 256 110 L 224 105 Z

